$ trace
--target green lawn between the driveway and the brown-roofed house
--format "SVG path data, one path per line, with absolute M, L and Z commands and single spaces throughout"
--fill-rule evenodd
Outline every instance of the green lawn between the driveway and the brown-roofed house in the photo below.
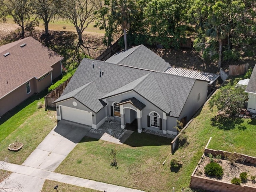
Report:
M 8 162 L 22 164 L 56 125 L 56 111 L 37 109 L 38 100 L 33 96 L 1 118 L 0 160 L 7 157 Z M 14 142 L 22 142 L 23 148 L 9 151 L 8 145 Z

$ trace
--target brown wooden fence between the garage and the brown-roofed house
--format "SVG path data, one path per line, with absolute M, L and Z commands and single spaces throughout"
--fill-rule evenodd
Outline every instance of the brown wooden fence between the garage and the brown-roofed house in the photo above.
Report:
M 60 95 L 63 93 L 64 89 L 68 85 L 68 82 L 70 81 L 71 77 L 68 78 L 64 83 L 62 83 L 60 86 L 58 86 L 56 89 L 52 90 L 50 93 L 48 93 L 44 97 L 44 104 L 45 104 L 45 109 L 47 108 L 55 108 L 56 104 L 52 103 L 56 99 L 60 97 Z

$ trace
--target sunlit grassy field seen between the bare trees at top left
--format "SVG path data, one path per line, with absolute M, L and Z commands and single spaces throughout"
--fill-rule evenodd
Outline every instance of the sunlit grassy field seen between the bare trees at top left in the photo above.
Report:
M 8 16 L 6 18 L 6 22 L 10 24 L 15 24 L 11 16 Z M 99 28 L 94 27 L 94 22 L 90 23 L 86 30 L 84 32 L 93 32 L 93 33 L 99 33 L 104 34 L 104 30 L 100 30 Z M 63 27 L 66 27 L 66 29 L 63 29 Z M 37 27 L 39 30 L 44 30 L 43 21 L 39 21 L 39 26 Z M 59 18 L 58 20 L 53 20 L 49 23 L 49 30 L 57 30 L 57 31 L 72 31 L 76 32 L 76 28 L 68 21 Z

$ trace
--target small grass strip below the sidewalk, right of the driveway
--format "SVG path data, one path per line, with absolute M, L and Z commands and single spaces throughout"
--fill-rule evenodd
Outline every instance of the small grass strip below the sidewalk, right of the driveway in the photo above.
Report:
M 78 187 L 66 183 L 60 183 L 56 181 L 45 180 L 44 186 L 41 192 L 54 192 L 54 186 L 58 185 L 58 192 L 100 192 L 93 189 Z

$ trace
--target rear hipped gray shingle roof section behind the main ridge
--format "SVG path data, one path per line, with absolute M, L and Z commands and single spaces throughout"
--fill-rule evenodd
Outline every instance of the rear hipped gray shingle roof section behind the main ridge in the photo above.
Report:
M 106 60 L 106 62 L 161 72 L 170 66 L 168 62 L 144 45 L 116 53 Z

